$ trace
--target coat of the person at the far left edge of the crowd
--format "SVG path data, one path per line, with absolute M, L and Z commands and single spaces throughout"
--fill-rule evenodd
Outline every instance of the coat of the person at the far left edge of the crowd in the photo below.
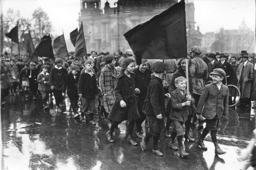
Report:
M 8 89 L 11 85 L 8 74 L 11 74 L 11 76 L 15 76 L 14 71 L 12 70 L 12 67 L 9 65 L 1 64 L 1 68 L 0 68 L 1 89 Z

